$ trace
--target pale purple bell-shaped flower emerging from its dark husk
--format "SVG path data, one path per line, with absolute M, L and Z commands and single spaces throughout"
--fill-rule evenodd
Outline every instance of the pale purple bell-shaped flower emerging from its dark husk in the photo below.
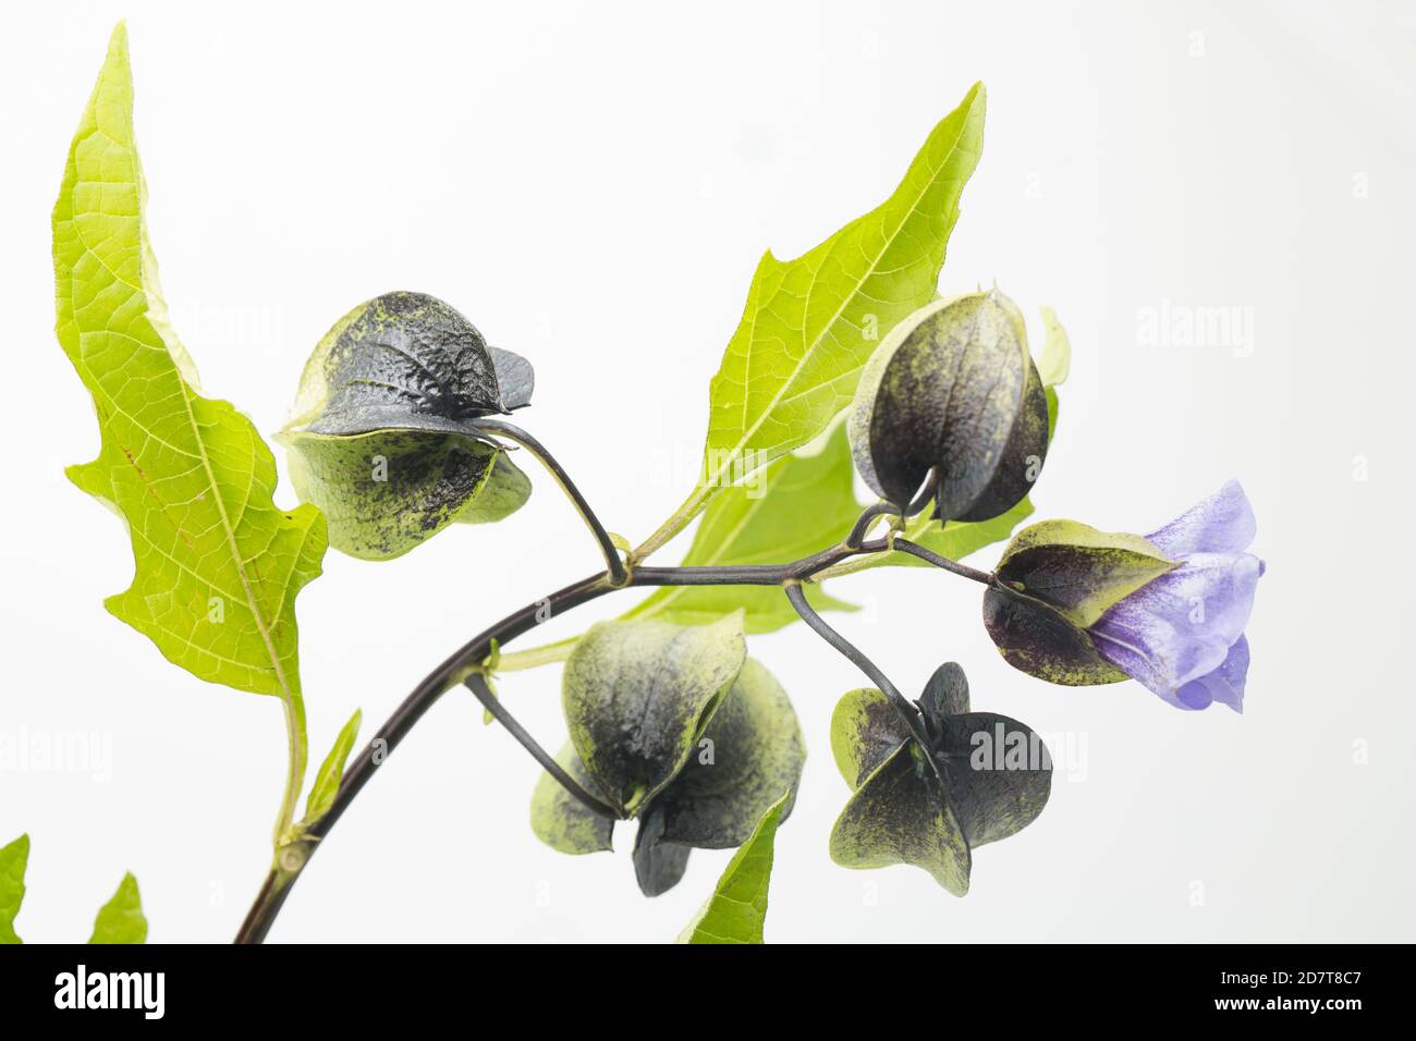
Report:
M 1246 552 L 1253 508 L 1239 482 L 1146 538 L 1180 567 L 1114 603 L 1090 626 L 1096 650 L 1177 708 L 1243 711 L 1243 629 L 1264 565 Z

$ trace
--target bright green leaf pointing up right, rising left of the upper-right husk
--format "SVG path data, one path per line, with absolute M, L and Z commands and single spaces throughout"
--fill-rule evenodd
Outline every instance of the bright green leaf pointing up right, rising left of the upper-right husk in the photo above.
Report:
M 640 557 L 729 484 L 824 431 L 879 337 L 935 297 L 959 197 L 983 150 L 984 108 L 974 84 L 882 205 L 794 261 L 762 258 L 709 387 L 698 484 Z

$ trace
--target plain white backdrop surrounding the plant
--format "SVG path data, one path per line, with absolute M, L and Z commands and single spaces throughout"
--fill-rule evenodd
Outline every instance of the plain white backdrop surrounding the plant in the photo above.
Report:
M 194 680 L 103 610 L 132 574 L 127 540 L 61 473 L 98 439 L 52 336 L 50 208 L 125 14 L 153 242 L 207 392 L 273 432 L 334 319 L 389 289 L 435 293 L 535 361 L 521 419 L 634 541 L 692 483 L 708 378 L 760 252 L 794 256 L 881 201 L 986 81 L 987 143 L 942 289 L 997 279 L 1070 333 L 1039 518 L 1148 531 L 1243 482 L 1269 562 L 1247 710 L 1049 687 L 997 656 L 974 586 L 850 578 L 837 593 L 867 610 L 840 625 L 902 687 L 957 659 L 977 707 L 1085 755 L 1055 748 L 1046 812 L 977 855 L 966 899 L 915 868 L 845 871 L 826 853 L 847 797 L 827 721 L 860 680 L 803 626 L 755 639 L 810 748 L 767 939 L 1412 939 L 1416 27 L 1409 6 L 1359 3 L 11 11 L 0 734 L 112 749 L 96 773 L 0 770 L 0 841 L 34 844 L 21 935 L 86 938 L 132 870 L 152 940 L 228 939 L 283 778 L 275 700 Z M 1141 343 L 1163 302 L 1252 309 L 1252 343 Z M 395 564 L 330 552 L 299 601 L 316 762 L 355 707 L 368 732 L 473 632 L 595 569 L 535 479 L 511 524 Z M 551 746 L 558 671 L 503 684 Z M 537 772 L 450 694 L 272 939 L 673 938 L 728 854 L 695 853 L 647 901 L 629 829 L 617 853 L 582 858 L 531 836 Z

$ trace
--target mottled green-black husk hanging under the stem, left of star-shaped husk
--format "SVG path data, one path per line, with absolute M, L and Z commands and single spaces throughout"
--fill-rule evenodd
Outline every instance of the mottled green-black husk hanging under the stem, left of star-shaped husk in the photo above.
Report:
M 704 698 L 712 680 L 702 677 L 716 677 L 738 653 L 741 620 L 726 622 L 738 625 L 680 629 L 678 639 L 667 623 L 600 623 L 566 666 L 572 744 L 556 762 L 588 792 L 639 819 L 634 874 L 649 897 L 678 882 L 691 848 L 746 841 L 801 778 L 806 746 L 796 712 L 762 664 L 743 660 L 724 695 Z M 716 654 L 705 653 L 712 643 Z M 647 666 L 639 657 L 646 649 Z M 646 673 L 653 684 L 647 695 L 640 683 Z M 588 749 L 583 758 L 581 748 Z M 620 796 L 626 786 L 630 799 Z M 790 812 L 787 799 L 783 819 Z M 531 827 L 552 848 L 575 854 L 609 850 L 613 830 L 548 773 L 531 799 Z

